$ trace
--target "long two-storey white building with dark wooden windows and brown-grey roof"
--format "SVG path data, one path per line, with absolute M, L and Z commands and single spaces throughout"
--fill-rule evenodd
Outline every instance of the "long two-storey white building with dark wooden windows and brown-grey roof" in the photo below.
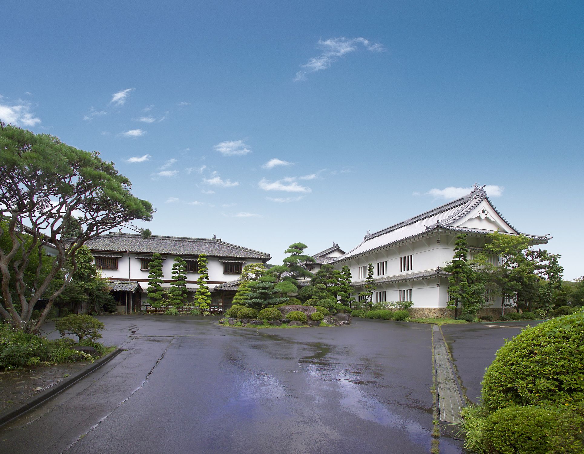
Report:
M 214 287 L 239 276 L 241 270 L 249 263 L 266 263 L 270 254 L 247 247 L 225 243 L 217 238 L 183 238 L 178 236 L 152 235 L 142 238 L 131 233 L 107 233 L 88 240 L 95 264 L 102 270 L 104 277 L 113 283 L 113 294 L 122 312 L 134 312 L 147 305 L 146 289 L 148 287 L 148 264 L 152 254 L 162 255 L 162 273 L 164 286 L 172 282 L 172 265 L 175 257 L 181 257 L 187 264 L 187 289 L 189 302 L 193 301 L 194 291 L 200 274 L 197 267 L 199 254 L 207 254 L 207 284 L 211 289 L 212 306 L 223 309 L 221 292 Z

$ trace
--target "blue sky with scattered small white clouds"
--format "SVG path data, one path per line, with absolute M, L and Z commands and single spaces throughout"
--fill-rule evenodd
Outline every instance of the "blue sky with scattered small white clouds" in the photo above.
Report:
M 554 237 L 565 278 L 584 274 L 582 2 L 2 14 L 0 118 L 113 160 L 158 209 L 155 234 L 216 234 L 279 263 L 297 241 L 352 249 L 477 181 L 521 231 Z

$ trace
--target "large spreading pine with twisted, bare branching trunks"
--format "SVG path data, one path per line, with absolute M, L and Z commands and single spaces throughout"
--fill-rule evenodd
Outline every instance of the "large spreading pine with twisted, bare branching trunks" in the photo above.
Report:
M 0 249 L 0 315 L 14 326 L 36 333 L 55 298 L 77 271 L 75 252 L 79 247 L 101 233 L 129 226 L 135 219 L 150 221 L 155 210 L 150 202 L 131 194 L 130 180 L 121 176 L 113 163 L 100 159 L 98 152 L 81 151 L 57 137 L 33 134 L 1 122 L 0 173 L 0 219 L 8 221 L 0 225 L 0 235 L 6 230 L 11 239 L 8 247 Z M 62 232 L 71 225 L 72 218 L 81 224 L 82 232 L 71 241 Z M 25 232 L 30 233 L 30 241 Z M 57 255 L 52 257 L 50 270 L 42 280 L 43 261 L 39 261 L 37 279 L 29 287 L 25 271 L 44 245 L 56 247 Z M 18 254 L 21 259 L 13 261 Z M 60 287 L 48 294 L 51 281 L 69 260 L 70 272 Z M 39 319 L 29 324 L 41 296 L 47 299 L 46 307 Z

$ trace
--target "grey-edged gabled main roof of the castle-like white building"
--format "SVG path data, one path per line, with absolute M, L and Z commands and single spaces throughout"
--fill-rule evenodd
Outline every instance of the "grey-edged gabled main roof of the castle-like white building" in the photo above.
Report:
M 405 221 L 394 224 L 388 228 L 380 230 L 375 233 L 367 233 L 357 247 L 350 250 L 348 253 L 344 254 L 335 262 L 343 261 L 349 259 L 350 257 L 359 256 L 367 253 L 371 253 L 374 250 L 380 249 L 382 247 L 387 247 L 393 243 L 398 243 L 407 239 L 415 238 L 416 236 L 423 235 L 424 233 L 429 233 L 437 229 L 445 229 L 447 231 L 453 232 L 463 232 L 463 233 L 492 233 L 495 231 L 482 229 L 482 228 L 465 228 L 460 226 L 461 221 L 465 219 L 465 216 L 471 214 L 471 212 L 479 207 L 481 203 L 488 203 L 492 211 L 496 213 L 493 216 L 498 217 L 499 221 L 505 225 L 505 228 L 509 230 L 512 235 L 519 235 L 519 232 L 515 227 L 513 227 L 505 218 L 500 214 L 495 205 L 492 204 L 491 200 L 486 195 L 485 186 L 475 186 L 472 191 L 465 195 L 464 197 L 457 198 L 447 204 L 440 205 L 440 207 L 430 209 L 429 211 L 423 212 L 418 216 L 406 219 Z M 526 235 L 526 234 L 524 234 Z M 534 239 L 534 242 L 543 243 L 547 242 L 549 239 L 547 235 L 526 235 Z

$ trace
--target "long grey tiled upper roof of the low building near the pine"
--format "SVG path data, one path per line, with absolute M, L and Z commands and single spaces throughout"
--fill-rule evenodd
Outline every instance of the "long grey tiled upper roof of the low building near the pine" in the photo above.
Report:
M 213 238 L 183 238 L 180 236 L 152 235 L 142 238 L 134 233 L 107 233 L 85 242 L 85 246 L 96 251 L 132 253 L 175 254 L 180 256 L 198 256 L 200 253 L 211 257 L 239 257 L 242 259 L 259 259 L 268 261 L 270 254 L 247 247 L 225 243 Z

